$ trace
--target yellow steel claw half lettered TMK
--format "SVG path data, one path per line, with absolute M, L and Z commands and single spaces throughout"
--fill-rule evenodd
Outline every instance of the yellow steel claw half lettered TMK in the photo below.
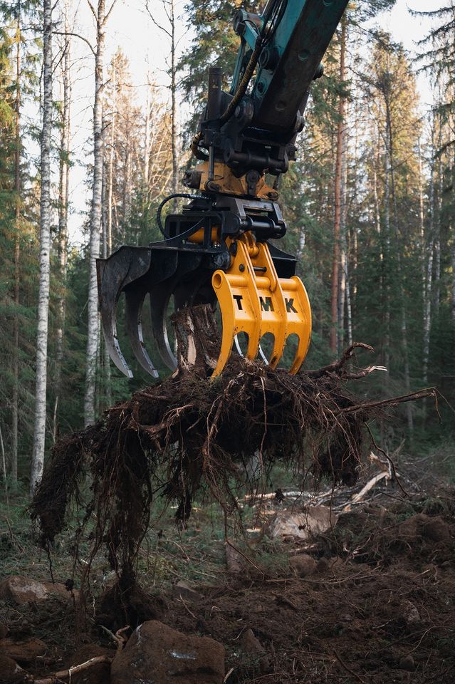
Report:
M 236 245 L 236 247 L 234 247 Z M 273 335 L 269 365 L 276 368 L 288 336 L 298 343 L 290 373 L 297 373 L 308 352 L 311 309 L 308 295 L 297 276 L 278 278 L 267 244 L 256 242 L 251 232 L 228 241 L 234 254 L 230 268 L 215 271 L 212 285 L 221 309 L 223 334 L 221 352 L 212 377 L 223 370 L 231 355 L 234 338 L 248 336 L 246 358 L 256 358 L 261 337 Z M 233 249 L 234 248 L 234 249 Z

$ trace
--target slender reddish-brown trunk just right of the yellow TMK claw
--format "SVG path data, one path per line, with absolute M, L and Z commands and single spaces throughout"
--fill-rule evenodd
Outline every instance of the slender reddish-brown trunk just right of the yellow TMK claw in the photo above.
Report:
M 346 78 L 346 19 L 342 18 L 340 37 L 340 82 Z M 330 328 L 330 350 L 338 352 L 338 297 L 340 274 L 340 221 L 341 221 L 341 185 L 342 185 L 342 152 L 345 128 L 345 98 L 340 95 L 338 103 L 337 152 L 335 159 L 335 217 L 333 219 L 333 265 L 332 265 L 332 326 Z

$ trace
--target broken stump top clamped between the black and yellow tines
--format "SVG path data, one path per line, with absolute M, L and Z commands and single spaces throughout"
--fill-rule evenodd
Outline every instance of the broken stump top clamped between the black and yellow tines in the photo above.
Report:
M 171 316 L 177 341 L 177 373 L 199 378 L 213 373 L 221 348 L 219 329 L 210 304 L 179 309 Z

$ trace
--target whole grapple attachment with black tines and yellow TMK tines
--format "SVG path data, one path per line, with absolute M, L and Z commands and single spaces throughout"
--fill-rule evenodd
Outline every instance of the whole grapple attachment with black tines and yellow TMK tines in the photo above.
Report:
M 212 377 L 223 370 L 239 333 L 248 336 L 245 356 L 253 359 L 260 354 L 272 368 L 283 357 L 288 337 L 296 335 L 289 368 L 296 373 L 310 343 L 311 312 L 305 287 L 294 275 L 296 259 L 266 242 L 268 237 L 281 237 L 286 229 L 278 204 L 238 198 L 232 204 L 229 197 L 224 202 L 192 199 L 182 214 L 167 217 L 162 242 L 123 246 L 108 259 L 97 260 L 98 300 L 110 358 L 132 378 L 117 338 L 116 309 L 124 292 L 130 346 L 140 366 L 158 377 L 142 333 L 142 308 L 149 294 L 155 348 L 172 371 L 177 360 L 167 335 L 171 297 L 174 309 L 216 306 L 218 301 L 221 352 Z M 266 333 L 273 335 L 268 360 L 261 349 Z M 239 350 L 238 343 L 236 347 Z

